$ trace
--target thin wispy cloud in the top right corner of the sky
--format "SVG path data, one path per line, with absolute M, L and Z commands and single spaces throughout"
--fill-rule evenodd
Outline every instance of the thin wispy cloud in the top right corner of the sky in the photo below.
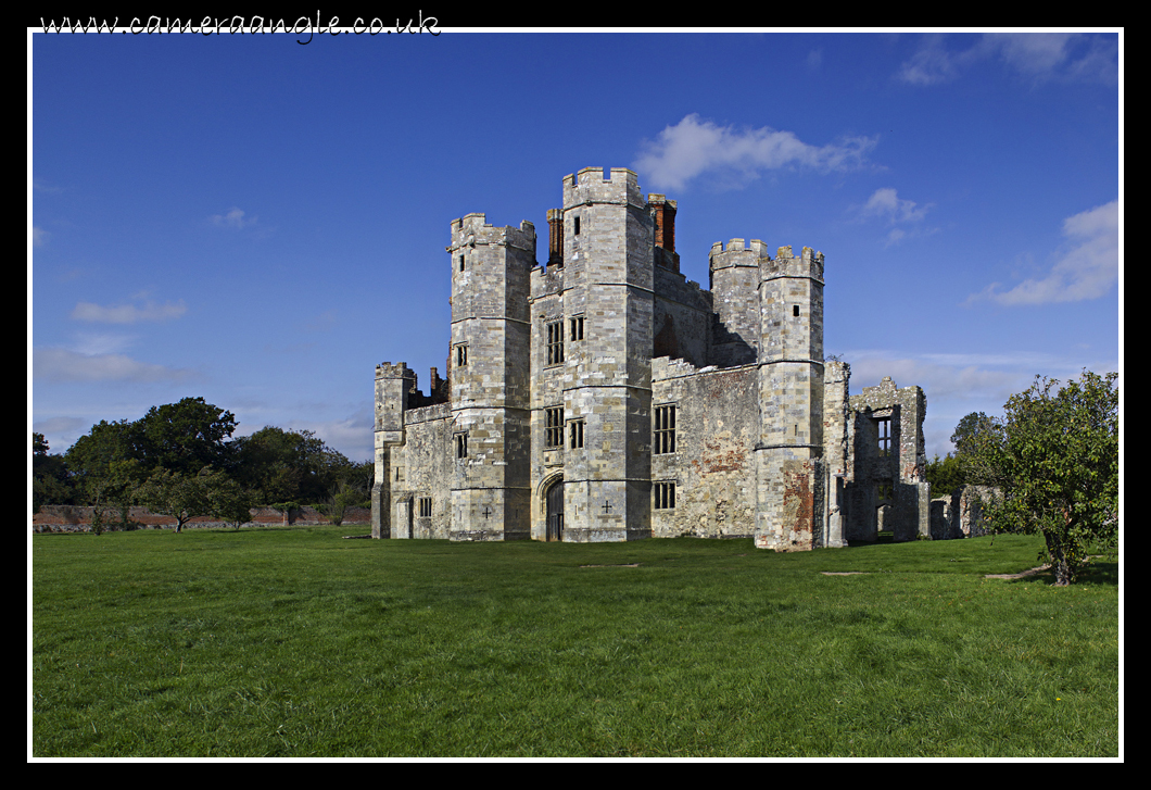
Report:
M 1119 46 L 1114 39 L 1074 32 L 984 33 L 975 45 L 953 50 L 942 33 L 924 36 L 895 78 L 912 85 L 936 85 L 961 76 L 970 66 L 998 60 L 1034 83 L 1050 79 L 1115 84 Z

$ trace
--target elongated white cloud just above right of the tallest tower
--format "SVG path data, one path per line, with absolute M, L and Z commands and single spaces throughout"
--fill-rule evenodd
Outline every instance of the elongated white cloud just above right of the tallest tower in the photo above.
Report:
M 853 137 L 834 145 L 809 145 L 791 131 L 721 127 L 693 113 L 664 128 L 655 142 L 646 140 L 634 168 L 657 189 L 684 189 L 704 173 L 747 182 L 784 167 L 822 172 L 857 167 L 875 144 L 875 138 Z

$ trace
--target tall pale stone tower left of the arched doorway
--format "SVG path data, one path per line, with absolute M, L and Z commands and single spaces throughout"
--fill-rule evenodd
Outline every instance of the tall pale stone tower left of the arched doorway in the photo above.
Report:
M 528 537 L 527 296 L 535 228 L 451 223 L 452 540 Z

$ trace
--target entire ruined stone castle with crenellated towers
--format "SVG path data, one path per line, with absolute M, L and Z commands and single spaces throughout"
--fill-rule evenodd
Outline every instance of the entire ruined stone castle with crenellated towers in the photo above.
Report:
M 795 550 L 874 540 L 883 496 L 897 539 L 927 533 L 923 393 L 848 398 L 823 358 L 823 255 L 717 243 L 704 290 L 676 213 L 631 170 L 585 168 L 543 264 L 531 222 L 451 222 L 447 380 L 425 396 L 405 364 L 375 371 L 373 537 Z

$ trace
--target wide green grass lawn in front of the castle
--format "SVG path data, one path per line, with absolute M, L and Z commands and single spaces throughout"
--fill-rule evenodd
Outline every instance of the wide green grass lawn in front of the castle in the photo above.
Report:
M 1115 563 L 984 578 L 1034 538 L 364 532 L 33 537 L 32 754 L 1119 754 Z

